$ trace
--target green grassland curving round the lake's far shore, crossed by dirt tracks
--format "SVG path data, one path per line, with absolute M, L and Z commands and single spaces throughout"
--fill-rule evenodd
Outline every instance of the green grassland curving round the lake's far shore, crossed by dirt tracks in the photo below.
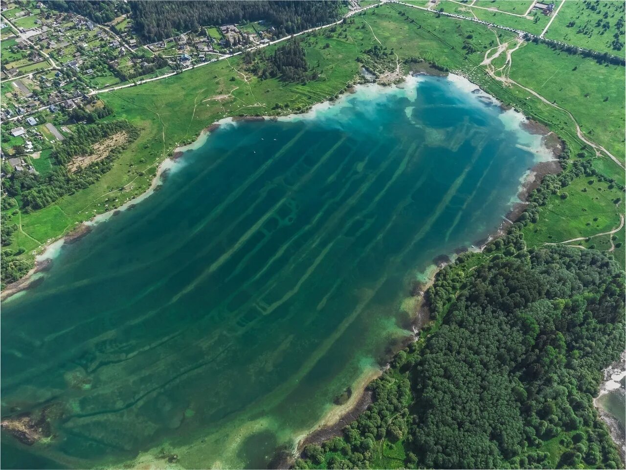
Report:
M 386 4 L 355 16 L 354 24 L 342 25 L 336 33 L 324 30 L 302 36 L 309 65 L 321 73 L 319 80 L 306 85 L 260 80 L 245 71 L 241 58 L 234 57 L 146 85 L 103 93 L 100 97 L 116 110 L 115 118 L 126 118 L 141 128 L 140 138 L 96 184 L 59 199 L 54 206 L 23 214 L 23 229 L 45 243 L 78 222 L 138 196 L 146 191 L 165 157 L 223 117 L 284 114 L 285 110 L 275 109 L 277 104 L 286 107 L 287 113 L 299 112 L 334 97 L 358 74 L 361 65 L 357 58 L 374 45 L 386 48 L 393 62 L 395 55 L 399 61 L 423 58 L 463 73 L 496 98 L 548 125 L 567 140 L 576 155 L 585 145 L 565 112 L 518 86 L 503 86 L 480 65 L 498 42 L 514 37 L 471 21 L 437 18 L 431 12 Z M 623 160 L 623 67 L 599 65 L 542 44 L 521 47 L 511 60 L 513 80 L 536 88 L 546 99 L 572 112 L 589 138 Z M 623 170 L 608 158 L 595 159 L 594 167 L 623 181 Z M 18 248 L 18 243 L 12 248 Z

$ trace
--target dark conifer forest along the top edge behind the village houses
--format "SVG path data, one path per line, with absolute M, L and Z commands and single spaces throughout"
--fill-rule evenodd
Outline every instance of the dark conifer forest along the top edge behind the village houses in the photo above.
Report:
M 263 19 L 276 28 L 276 36 L 331 23 L 339 18 L 340 2 L 232 0 L 228 2 L 131 1 L 134 26 L 147 42 L 165 39 L 210 24 L 242 23 Z

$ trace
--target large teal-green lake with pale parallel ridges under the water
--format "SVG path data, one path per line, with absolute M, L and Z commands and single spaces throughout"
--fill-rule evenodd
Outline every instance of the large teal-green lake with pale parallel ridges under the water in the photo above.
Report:
M 267 466 L 408 336 L 411 281 L 500 226 L 537 141 L 433 77 L 223 125 L 3 303 L 3 417 L 61 410 L 5 462 Z

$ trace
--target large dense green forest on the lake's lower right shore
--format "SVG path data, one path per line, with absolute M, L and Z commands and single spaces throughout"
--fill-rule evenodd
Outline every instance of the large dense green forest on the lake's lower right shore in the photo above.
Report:
M 624 344 L 624 279 L 593 250 L 525 249 L 513 229 L 427 293 L 441 325 L 373 382 L 374 402 L 295 467 L 622 467 L 593 396 Z M 400 458 L 400 457 L 402 458 Z

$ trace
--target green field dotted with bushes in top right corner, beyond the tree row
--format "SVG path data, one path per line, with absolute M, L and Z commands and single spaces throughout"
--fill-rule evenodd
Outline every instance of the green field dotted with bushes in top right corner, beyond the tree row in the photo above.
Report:
M 600 24 L 598 25 L 598 21 Z M 608 29 L 603 25 L 608 23 Z M 617 24 L 621 23 L 618 28 Z M 614 34 L 621 48 L 613 48 Z M 548 39 L 557 39 L 574 46 L 597 51 L 608 51 L 624 57 L 626 42 L 624 36 L 624 3 L 620 1 L 584 2 L 567 1 L 558 12 L 557 18 L 550 25 L 545 35 Z

